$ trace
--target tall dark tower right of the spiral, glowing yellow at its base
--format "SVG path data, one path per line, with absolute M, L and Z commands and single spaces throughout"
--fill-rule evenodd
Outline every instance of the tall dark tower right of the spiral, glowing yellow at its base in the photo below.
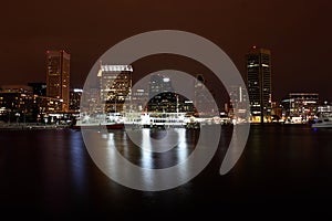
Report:
M 252 46 L 246 60 L 251 122 L 264 123 L 271 116 L 271 52 Z

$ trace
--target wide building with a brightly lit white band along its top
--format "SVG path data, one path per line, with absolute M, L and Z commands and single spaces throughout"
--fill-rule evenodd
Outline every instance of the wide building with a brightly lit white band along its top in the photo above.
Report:
M 132 94 L 132 65 L 101 65 L 97 76 L 105 113 L 125 110 L 124 104 Z

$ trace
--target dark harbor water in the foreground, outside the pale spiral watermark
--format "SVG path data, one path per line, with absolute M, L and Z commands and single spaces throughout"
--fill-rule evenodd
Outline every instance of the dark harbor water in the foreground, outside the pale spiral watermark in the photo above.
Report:
M 146 192 L 105 176 L 91 159 L 82 134 L 71 129 L 0 131 L 0 219 L 34 220 L 176 219 L 180 215 L 287 219 L 330 215 L 332 129 L 308 125 L 251 126 L 241 158 L 219 175 L 231 127 L 222 128 L 219 149 L 196 178 L 178 188 Z M 123 131 L 111 131 L 123 137 Z M 186 154 L 195 131 L 186 131 Z M 131 145 L 120 151 L 152 168 L 170 166 L 181 151 L 145 159 Z M 184 148 L 184 147 L 183 147 Z M 225 219 L 224 219 L 225 220 Z

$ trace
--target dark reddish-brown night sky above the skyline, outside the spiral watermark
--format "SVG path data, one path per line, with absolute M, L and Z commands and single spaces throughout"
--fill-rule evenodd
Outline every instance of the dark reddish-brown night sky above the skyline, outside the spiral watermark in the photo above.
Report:
M 71 54 L 71 85 L 82 87 L 92 65 L 117 42 L 173 29 L 216 43 L 243 76 L 250 46 L 270 49 L 273 99 L 318 92 L 332 101 L 331 10 L 330 0 L 4 1 L 0 85 L 45 82 L 45 51 L 64 49 Z

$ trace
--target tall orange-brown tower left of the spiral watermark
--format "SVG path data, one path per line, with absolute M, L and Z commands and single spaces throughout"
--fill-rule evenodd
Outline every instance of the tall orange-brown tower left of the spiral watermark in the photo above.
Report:
M 62 102 L 62 110 L 69 110 L 70 54 L 64 50 L 46 51 L 46 96 Z

